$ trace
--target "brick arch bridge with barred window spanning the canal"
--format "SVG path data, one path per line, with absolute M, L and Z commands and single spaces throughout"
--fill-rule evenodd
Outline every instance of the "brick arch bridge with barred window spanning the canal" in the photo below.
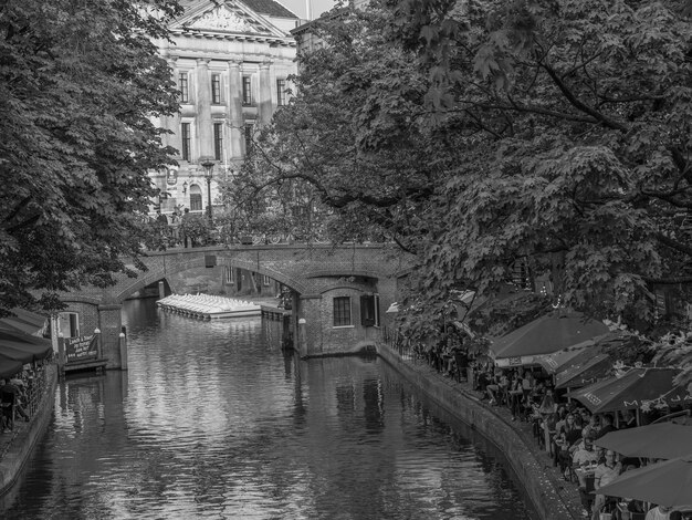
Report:
M 203 278 L 209 293 L 224 293 L 229 272 L 266 275 L 292 291 L 294 347 L 302 356 L 333 355 L 373 345 L 381 333 L 385 310 L 397 299 L 399 279 L 412 258 L 394 245 L 261 245 L 169 249 L 143 258 L 147 271 L 120 277 L 111 288 L 84 288 L 63 295 L 66 312 L 78 315 L 80 329 L 101 330 L 108 368 L 119 368 L 123 302 L 162 282 L 184 293 L 190 279 Z M 347 324 L 334 326 L 334 299 L 350 305 Z M 363 309 L 367 306 L 368 309 Z M 367 314 L 367 316 L 366 316 Z M 300 324 L 300 326 L 298 326 Z

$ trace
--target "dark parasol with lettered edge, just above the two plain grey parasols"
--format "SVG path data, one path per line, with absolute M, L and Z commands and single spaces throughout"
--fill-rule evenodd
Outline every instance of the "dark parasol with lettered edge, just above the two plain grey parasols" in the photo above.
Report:
M 678 368 L 632 368 L 625 375 L 612 376 L 567 394 L 583 403 L 593 414 L 639 408 L 647 402 L 663 405 L 692 403 L 683 386 L 673 385 Z

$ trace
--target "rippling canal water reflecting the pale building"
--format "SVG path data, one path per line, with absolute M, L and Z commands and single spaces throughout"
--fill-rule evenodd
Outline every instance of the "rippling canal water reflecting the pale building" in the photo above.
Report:
M 503 460 L 381 360 L 277 322 L 125 304 L 129 370 L 69 377 L 2 519 L 535 518 Z

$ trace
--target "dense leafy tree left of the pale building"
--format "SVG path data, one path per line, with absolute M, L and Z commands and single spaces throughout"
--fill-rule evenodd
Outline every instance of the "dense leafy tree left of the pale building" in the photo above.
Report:
M 137 257 L 169 162 L 150 117 L 177 112 L 154 39 L 175 1 L 0 6 L 0 312 L 60 308 Z M 130 273 L 132 274 L 132 273 Z

